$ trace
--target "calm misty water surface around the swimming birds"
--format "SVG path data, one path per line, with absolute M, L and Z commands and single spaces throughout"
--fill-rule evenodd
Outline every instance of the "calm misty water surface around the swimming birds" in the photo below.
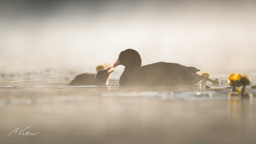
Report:
M 67 86 L 76 74 L 3 73 L 0 143 L 256 143 L 255 98 L 242 99 L 227 84 L 142 89 L 112 78 L 109 86 Z M 247 92 L 255 97 L 253 76 Z M 8 136 L 28 126 L 39 133 Z

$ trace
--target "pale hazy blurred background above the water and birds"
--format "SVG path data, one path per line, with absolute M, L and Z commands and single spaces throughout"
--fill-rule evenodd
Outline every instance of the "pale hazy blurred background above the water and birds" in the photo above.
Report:
M 1 1 L 0 72 L 112 65 L 128 48 L 143 65 L 253 71 L 255 7 L 252 0 Z

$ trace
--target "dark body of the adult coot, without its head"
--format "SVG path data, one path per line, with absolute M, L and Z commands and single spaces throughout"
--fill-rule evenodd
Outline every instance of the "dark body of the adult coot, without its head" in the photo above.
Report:
M 200 71 L 177 63 L 158 62 L 126 72 L 120 77 L 120 85 L 175 86 L 190 85 L 203 79 L 196 74 Z

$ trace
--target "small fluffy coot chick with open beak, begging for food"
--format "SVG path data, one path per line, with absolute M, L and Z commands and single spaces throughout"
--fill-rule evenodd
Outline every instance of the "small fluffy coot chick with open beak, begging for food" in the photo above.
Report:
M 69 85 L 106 85 L 110 73 L 114 71 L 109 71 L 110 68 L 101 69 L 97 73 L 86 72 L 79 74 L 69 83 Z

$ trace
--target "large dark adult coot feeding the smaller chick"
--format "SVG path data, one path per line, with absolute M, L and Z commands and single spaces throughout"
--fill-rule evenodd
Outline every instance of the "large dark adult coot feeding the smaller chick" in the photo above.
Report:
M 123 65 L 120 85 L 129 86 L 175 86 L 196 84 L 204 77 L 196 74 L 198 69 L 177 63 L 158 62 L 141 66 L 140 54 L 127 49 L 119 54 L 113 68 Z

